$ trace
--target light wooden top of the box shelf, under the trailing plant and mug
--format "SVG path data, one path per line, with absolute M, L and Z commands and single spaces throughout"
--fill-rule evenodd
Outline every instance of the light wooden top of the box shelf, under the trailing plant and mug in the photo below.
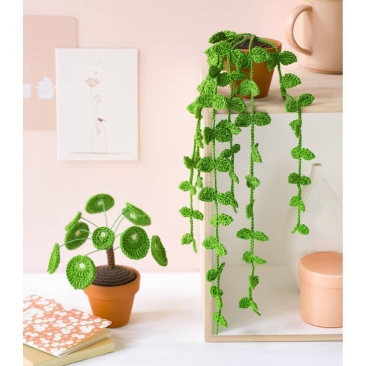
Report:
M 293 73 L 301 79 L 301 84 L 290 90 L 291 95 L 310 92 L 315 96 L 313 104 L 303 108 L 304 113 L 342 113 L 342 75 L 328 75 L 310 72 L 303 67 L 292 64 L 282 67 L 282 74 Z M 201 66 L 201 80 L 207 74 L 207 65 Z M 219 87 L 222 95 L 229 96 L 229 86 Z M 278 73 L 274 72 L 271 89 L 265 98 L 255 100 L 257 111 L 267 113 L 285 113 L 284 101 L 279 93 Z M 225 114 L 225 110 L 217 111 Z

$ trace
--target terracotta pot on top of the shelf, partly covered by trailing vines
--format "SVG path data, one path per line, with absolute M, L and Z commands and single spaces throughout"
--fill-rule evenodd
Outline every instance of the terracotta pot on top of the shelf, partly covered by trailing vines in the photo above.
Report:
M 275 43 L 275 45 L 278 48 L 278 51 L 281 50 L 282 44 L 281 42 L 275 40 L 275 39 L 271 39 L 271 38 L 264 38 L 267 39 L 268 41 L 271 41 L 273 43 Z M 269 48 L 265 48 L 265 50 L 267 52 L 274 52 L 275 49 L 274 47 L 269 47 Z M 246 52 L 248 53 L 248 50 L 240 50 L 242 52 Z M 271 81 L 272 81 L 272 76 L 273 76 L 273 72 L 268 70 L 267 67 L 267 63 L 266 62 L 261 62 L 261 63 L 254 63 L 254 74 L 253 74 L 253 80 L 256 82 L 256 84 L 259 87 L 259 90 L 261 91 L 259 93 L 259 95 L 255 96 L 255 98 L 263 98 L 265 96 L 267 96 L 268 91 L 270 90 L 270 85 L 271 85 Z M 228 67 L 227 67 L 227 62 L 225 60 L 225 67 L 226 67 L 226 71 L 228 71 Z M 235 71 L 236 67 L 234 64 L 230 65 L 230 70 L 231 71 Z M 250 68 L 246 68 L 241 70 L 242 73 L 247 74 L 247 78 L 250 79 Z M 239 84 L 242 82 L 242 80 L 238 80 L 234 82 L 235 85 L 235 90 L 237 90 L 237 88 L 239 87 Z M 236 96 L 239 96 L 240 98 L 245 98 L 245 99 L 250 99 L 250 94 L 248 95 L 240 95 L 240 94 L 236 94 Z

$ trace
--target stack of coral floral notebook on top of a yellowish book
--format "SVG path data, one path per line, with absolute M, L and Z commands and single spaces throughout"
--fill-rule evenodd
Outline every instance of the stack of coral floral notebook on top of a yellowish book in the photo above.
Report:
M 24 299 L 23 366 L 63 366 L 114 351 L 111 321 L 53 299 Z

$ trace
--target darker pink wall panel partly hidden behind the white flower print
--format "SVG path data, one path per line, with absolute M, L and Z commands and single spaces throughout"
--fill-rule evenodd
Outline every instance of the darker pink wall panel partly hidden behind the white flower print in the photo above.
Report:
M 24 129 L 56 129 L 55 48 L 77 47 L 70 16 L 24 16 Z

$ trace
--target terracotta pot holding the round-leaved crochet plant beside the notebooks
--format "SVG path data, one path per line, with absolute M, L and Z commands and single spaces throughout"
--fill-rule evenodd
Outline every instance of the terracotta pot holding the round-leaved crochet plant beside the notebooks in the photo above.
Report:
M 140 274 L 134 268 L 123 266 L 132 271 L 136 278 L 121 286 L 97 286 L 91 284 L 84 289 L 89 297 L 92 313 L 111 320 L 109 328 L 126 325 L 131 316 L 135 293 L 140 288 Z

